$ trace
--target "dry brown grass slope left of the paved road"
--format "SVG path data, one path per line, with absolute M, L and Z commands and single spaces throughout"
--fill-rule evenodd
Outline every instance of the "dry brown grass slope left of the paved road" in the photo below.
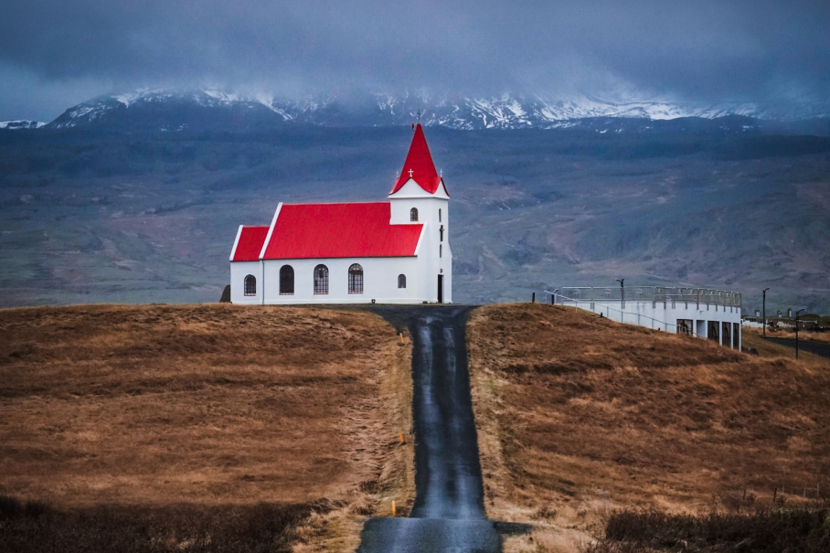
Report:
M 356 544 L 356 517 L 414 495 L 410 345 L 376 315 L 43 307 L 0 311 L 0 335 L 0 493 L 59 508 L 328 498 L 343 507 L 305 537 L 333 550 Z

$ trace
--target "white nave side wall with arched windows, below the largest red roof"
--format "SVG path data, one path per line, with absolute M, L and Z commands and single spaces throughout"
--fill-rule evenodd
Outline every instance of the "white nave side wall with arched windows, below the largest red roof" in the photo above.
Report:
M 363 293 L 348 292 L 348 269 L 353 263 L 363 267 Z M 280 294 L 280 269 L 294 270 L 293 295 Z M 328 268 L 328 293 L 314 293 L 314 268 Z M 267 260 L 264 262 L 265 303 L 421 303 L 434 302 L 429 287 L 422 282 L 418 258 L 330 258 L 311 260 Z M 398 288 L 398 275 L 404 274 L 406 288 Z

